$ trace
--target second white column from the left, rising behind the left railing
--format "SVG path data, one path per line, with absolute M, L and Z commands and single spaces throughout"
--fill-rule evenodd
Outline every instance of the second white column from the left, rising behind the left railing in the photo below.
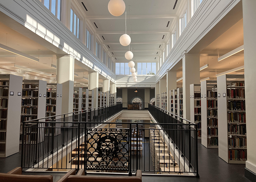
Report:
M 92 72 L 88 75 L 88 89 L 94 91 L 93 107 L 98 107 L 99 73 Z

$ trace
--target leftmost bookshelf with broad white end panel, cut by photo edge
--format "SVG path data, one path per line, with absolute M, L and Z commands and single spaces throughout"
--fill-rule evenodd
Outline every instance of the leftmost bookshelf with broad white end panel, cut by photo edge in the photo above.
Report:
M 21 92 L 21 76 L 0 74 L 0 157 L 19 152 Z

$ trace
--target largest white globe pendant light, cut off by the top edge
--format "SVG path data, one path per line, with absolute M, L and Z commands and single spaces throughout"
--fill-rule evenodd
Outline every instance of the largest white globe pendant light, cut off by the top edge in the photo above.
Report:
M 125 11 L 125 3 L 123 0 L 110 0 L 108 2 L 108 11 L 113 16 L 121 16 Z

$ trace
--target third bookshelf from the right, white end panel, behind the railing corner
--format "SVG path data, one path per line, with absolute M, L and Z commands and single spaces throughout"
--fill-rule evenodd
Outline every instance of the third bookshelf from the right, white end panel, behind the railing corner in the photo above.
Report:
M 201 139 L 201 84 L 190 85 L 190 120 L 198 124 L 197 137 Z

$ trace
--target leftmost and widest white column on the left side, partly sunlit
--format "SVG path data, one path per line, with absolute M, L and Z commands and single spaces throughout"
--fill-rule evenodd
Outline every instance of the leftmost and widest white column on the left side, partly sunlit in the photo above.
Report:
M 57 83 L 62 84 L 61 113 L 73 112 L 74 58 L 70 55 L 57 57 Z

